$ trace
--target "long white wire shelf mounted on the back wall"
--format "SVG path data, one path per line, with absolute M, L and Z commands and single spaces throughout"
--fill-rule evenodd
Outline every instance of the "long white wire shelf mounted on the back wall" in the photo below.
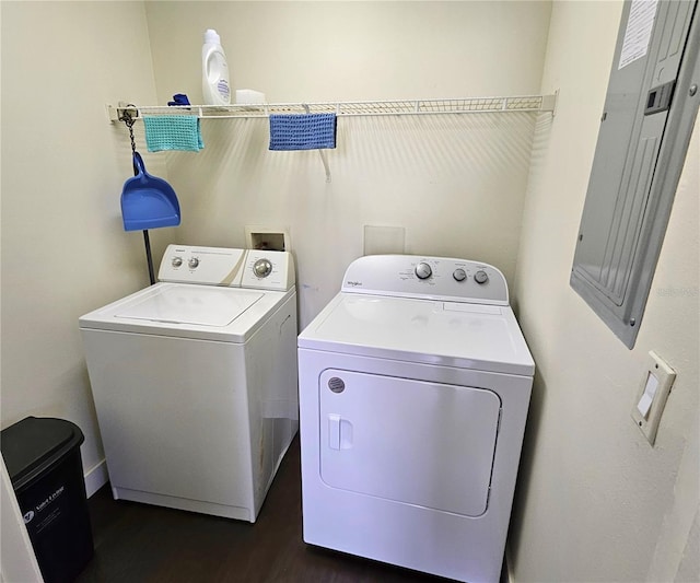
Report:
M 454 100 L 413 100 L 376 102 L 328 102 L 328 103 L 264 103 L 235 105 L 107 105 L 110 121 L 118 121 L 124 112 L 132 117 L 144 115 L 196 115 L 209 118 L 268 117 L 271 114 L 330 114 L 338 116 L 396 116 L 433 114 L 478 114 L 478 113 L 555 113 L 556 95 L 521 95 L 514 97 L 465 97 Z

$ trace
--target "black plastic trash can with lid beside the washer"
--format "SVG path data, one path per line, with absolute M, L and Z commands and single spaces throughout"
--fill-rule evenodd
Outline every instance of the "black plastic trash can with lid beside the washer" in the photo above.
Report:
M 2 430 L 0 448 L 46 583 L 74 581 L 93 556 L 78 425 L 27 417 Z

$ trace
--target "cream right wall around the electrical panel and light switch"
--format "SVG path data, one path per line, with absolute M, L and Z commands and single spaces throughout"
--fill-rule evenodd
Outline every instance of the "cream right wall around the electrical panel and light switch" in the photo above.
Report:
M 569 287 L 621 3 L 556 2 L 515 293 L 537 375 L 512 521 L 517 582 L 698 581 L 700 124 L 637 346 Z M 630 418 L 645 358 L 678 376 L 652 448 Z M 693 526 L 695 521 L 695 526 Z

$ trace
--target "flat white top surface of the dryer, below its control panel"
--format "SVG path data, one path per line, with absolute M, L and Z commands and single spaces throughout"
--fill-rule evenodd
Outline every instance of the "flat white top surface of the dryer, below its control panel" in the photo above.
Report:
M 300 348 L 532 376 L 535 363 L 510 306 L 340 292 Z

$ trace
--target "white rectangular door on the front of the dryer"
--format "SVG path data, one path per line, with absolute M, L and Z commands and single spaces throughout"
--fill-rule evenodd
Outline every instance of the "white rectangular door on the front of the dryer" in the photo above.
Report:
M 318 388 L 325 483 L 466 516 L 486 512 L 495 393 L 334 369 Z

